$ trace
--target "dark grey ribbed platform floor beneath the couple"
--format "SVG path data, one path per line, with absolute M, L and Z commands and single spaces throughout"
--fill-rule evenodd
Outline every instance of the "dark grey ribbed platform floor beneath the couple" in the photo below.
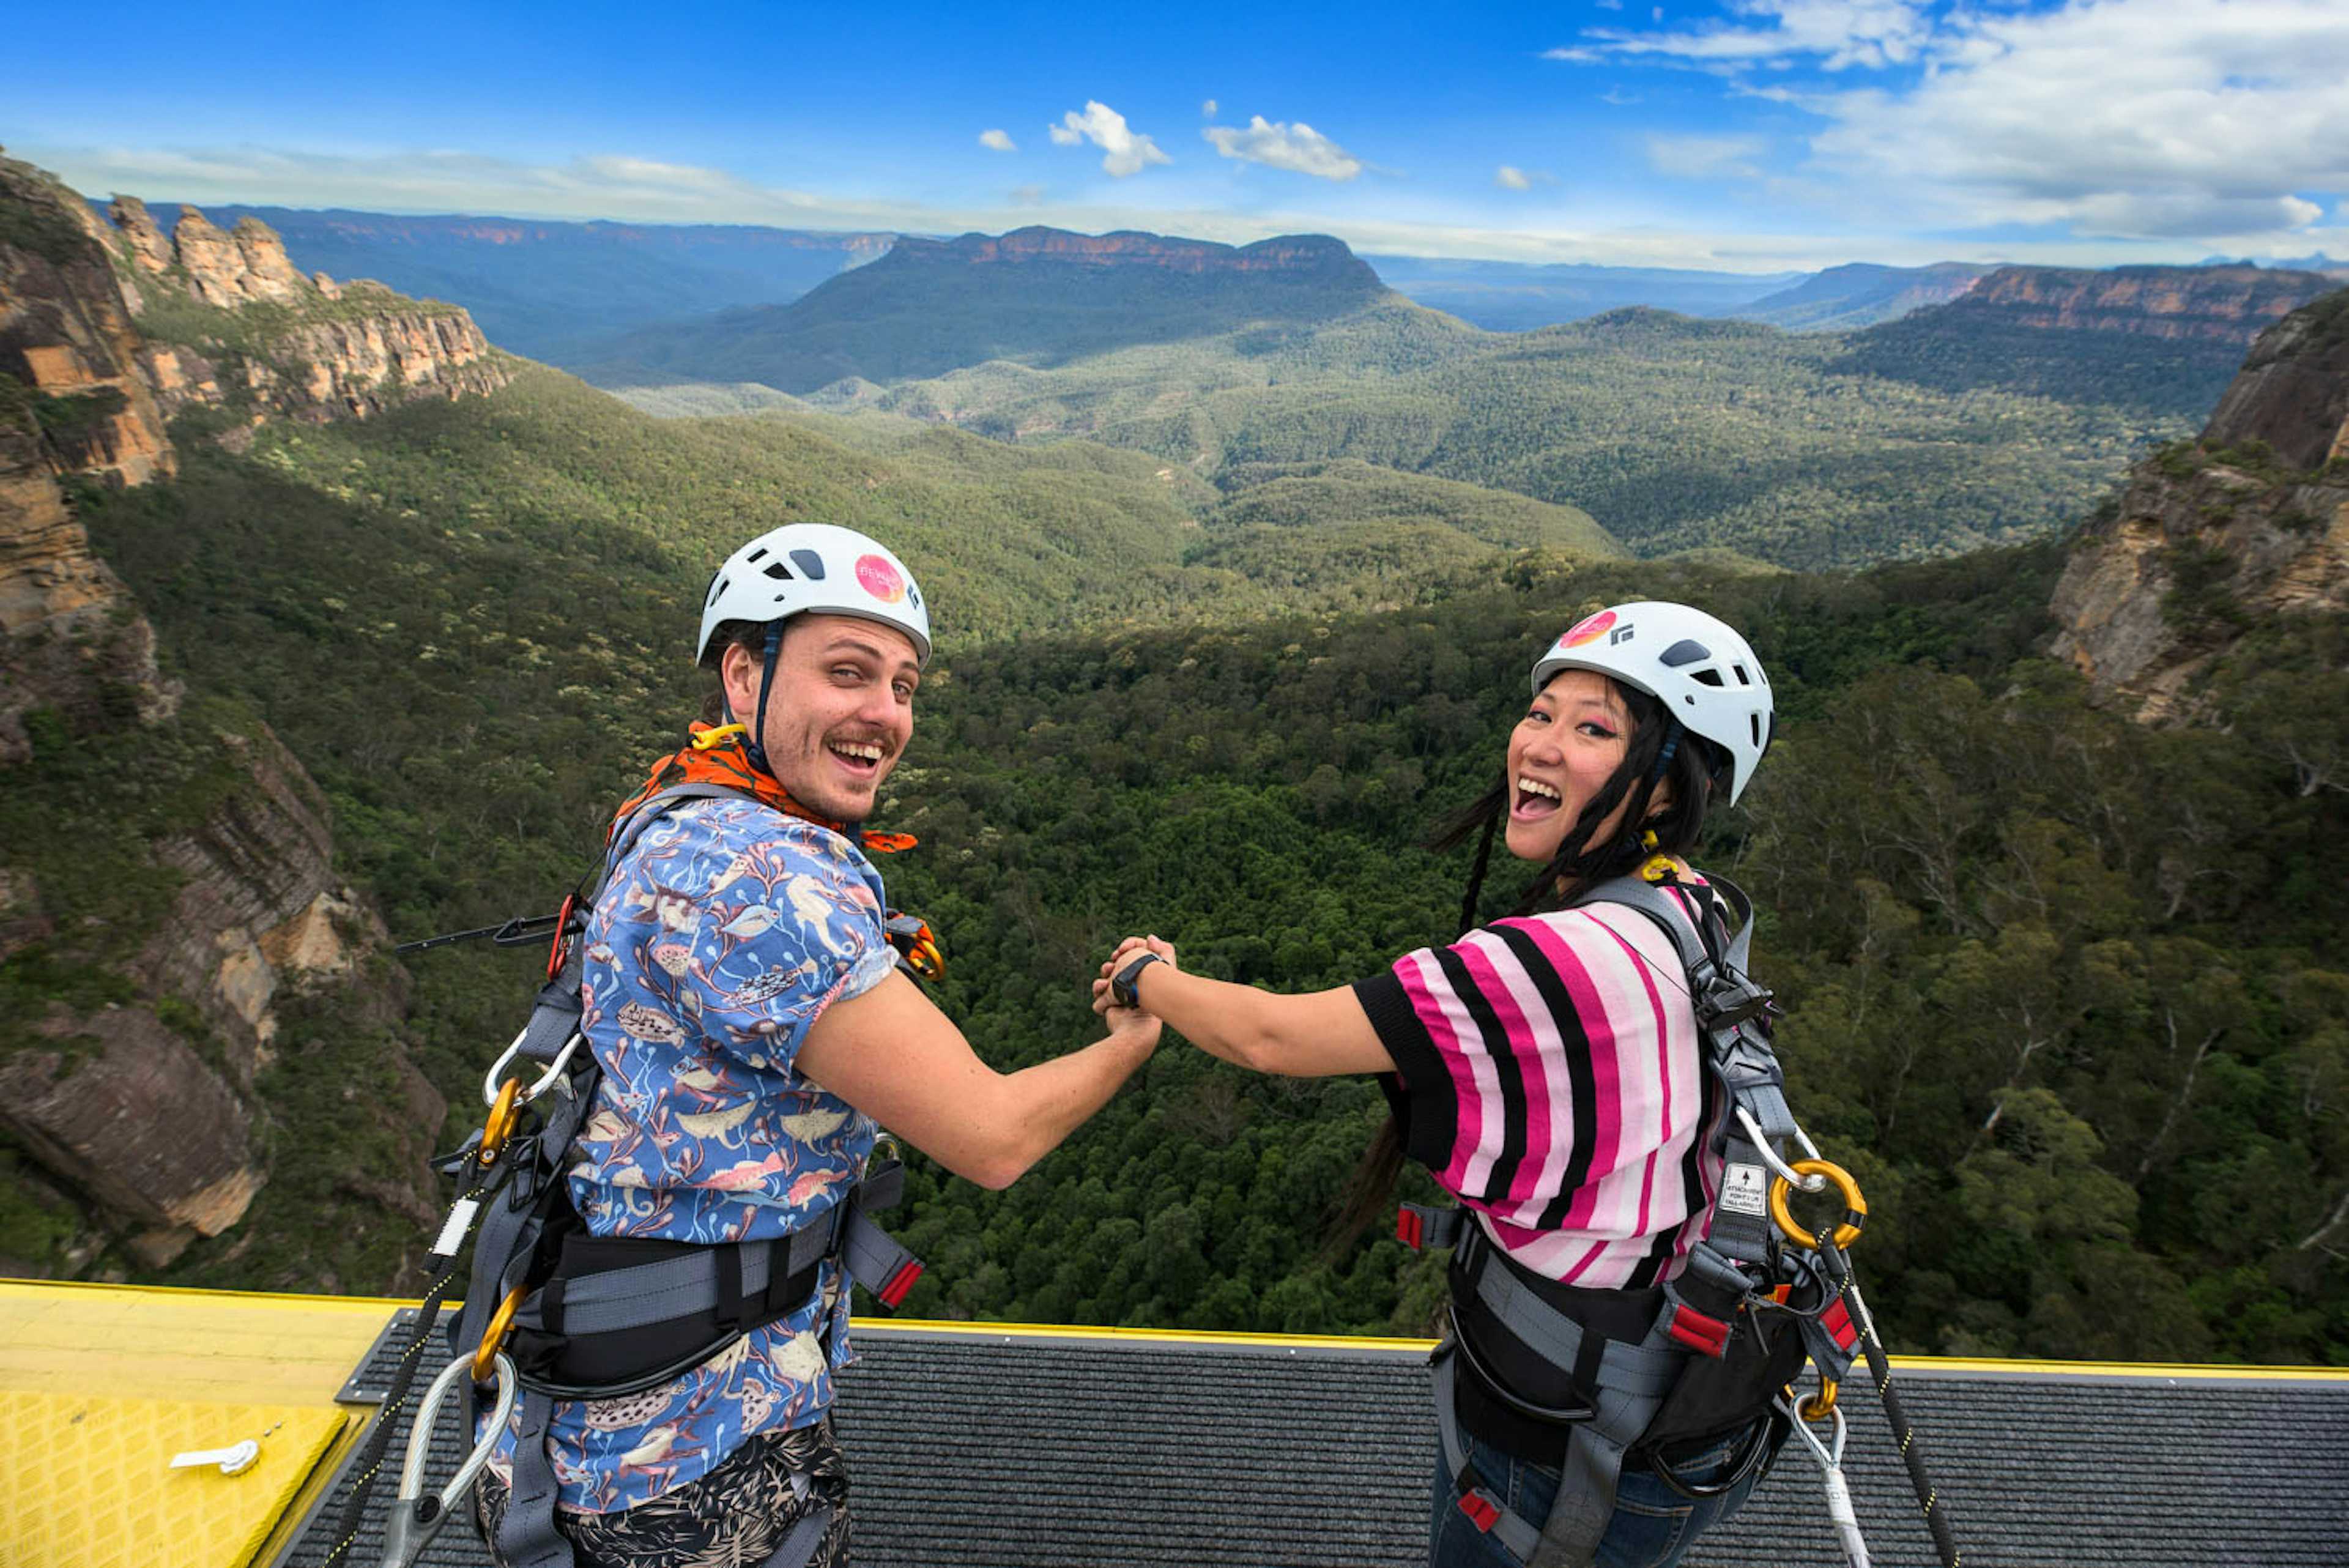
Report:
M 1414 1352 L 893 1326 L 860 1326 L 857 1342 L 839 1427 L 860 1568 L 1426 1561 L 1435 1436 Z M 357 1382 L 381 1387 L 383 1363 L 378 1347 Z M 1933 1363 L 1896 1378 L 1968 1568 L 2349 1566 L 2349 1380 Z M 1863 1380 L 1844 1410 L 1875 1561 L 1933 1568 Z M 369 1537 L 352 1561 L 378 1549 Z M 305 1537 L 289 1561 L 319 1552 Z M 425 1561 L 486 1556 L 451 1526 Z M 1790 1446 L 1689 1563 L 1842 1568 L 1816 1465 Z

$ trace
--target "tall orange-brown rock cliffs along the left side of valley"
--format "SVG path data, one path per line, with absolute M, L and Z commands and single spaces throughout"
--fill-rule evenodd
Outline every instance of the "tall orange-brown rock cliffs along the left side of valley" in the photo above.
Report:
M 322 308 L 350 294 L 294 273 L 258 226 L 181 219 L 164 237 L 136 202 L 117 216 L 106 226 L 49 176 L 0 160 L 9 1274 L 153 1272 L 235 1229 L 272 1173 L 287 1009 L 331 992 L 345 1018 L 383 1030 L 402 1013 L 383 929 L 334 872 L 317 785 L 258 717 L 157 672 L 153 628 L 92 552 L 78 505 L 89 487 L 169 482 L 176 409 L 226 404 L 235 416 L 214 428 L 249 435 L 270 416 L 352 416 L 423 383 L 453 393 L 503 376 L 444 310 Z M 390 350 L 402 317 L 439 350 Z M 153 336 L 157 320 L 218 336 L 195 350 Z M 388 346 L 381 374 L 369 341 Z M 439 1098 L 397 1039 L 378 1072 L 423 1126 L 411 1159 L 369 1180 L 381 1204 L 420 1211 Z

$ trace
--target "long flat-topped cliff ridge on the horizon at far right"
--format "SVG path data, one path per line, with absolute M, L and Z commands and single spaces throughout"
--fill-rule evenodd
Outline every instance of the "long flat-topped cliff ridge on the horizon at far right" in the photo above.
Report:
M 1947 306 L 1957 320 L 2250 343 L 2271 322 L 2340 287 L 2321 273 L 2255 266 L 2006 266 Z

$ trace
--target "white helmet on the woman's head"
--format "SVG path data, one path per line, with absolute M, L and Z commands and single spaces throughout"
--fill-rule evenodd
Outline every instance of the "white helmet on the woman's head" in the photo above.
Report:
M 1539 696 L 1560 670 L 1597 670 L 1661 701 L 1689 733 L 1729 752 L 1729 799 L 1769 750 L 1769 677 L 1727 623 L 1687 604 L 1616 604 L 1576 621 L 1534 663 Z

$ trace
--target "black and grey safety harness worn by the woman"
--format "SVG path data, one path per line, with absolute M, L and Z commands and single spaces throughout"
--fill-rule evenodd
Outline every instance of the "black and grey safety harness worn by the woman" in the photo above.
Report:
M 1691 1495 L 1741 1483 L 1776 1455 L 1790 1420 L 1788 1389 L 1804 1361 L 1818 1368 L 1820 1394 L 1802 1418 L 1828 1420 L 1858 1349 L 1839 1248 L 1858 1237 L 1867 1208 L 1853 1180 L 1818 1159 L 1785 1103 L 1769 1037 L 1771 992 L 1745 973 L 1752 900 L 1722 879 L 1677 884 L 1691 910 L 1649 877 L 1675 884 L 1672 865 L 1651 860 L 1642 877 L 1602 882 L 1574 907 L 1623 905 L 1672 938 L 1705 1070 L 1729 1098 L 1722 1185 L 1687 1269 L 1651 1291 L 1571 1291 L 1503 1255 L 1461 1208 L 1405 1204 L 1398 1218 L 1405 1244 L 1454 1248 L 1452 1321 L 1433 1363 L 1435 1422 L 1459 1509 L 1529 1568 L 1593 1561 L 1626 1462 Z M 1722 903 L 1738 917 L 1734 936 Z M 1788 1143 L 1806 1159 L 1788 1164 Z M 1788 1213 L 1788 1192 L 1830 1182 L 1844 1197 L 1844 1218 L 1832 1239 L 1813 1237 Z M 1823 1248 L 1844 1267 L 1830 1269 Z M 1470 1429 L 1506 1427 L 1557 1443 L 1562 1476 L 1548 1519 L 1515 1514 L 1475 1472 L 1461 1441 L 1463 1406 Z M 1736 1432 L 1752 1436 L 1727 1481 L 1694 1488 L 1675 1476 L 1672 1450 Z

